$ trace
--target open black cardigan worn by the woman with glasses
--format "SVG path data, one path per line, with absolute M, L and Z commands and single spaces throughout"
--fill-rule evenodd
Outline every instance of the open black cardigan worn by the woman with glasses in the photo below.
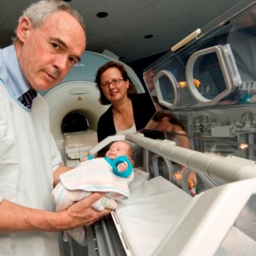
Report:
M 145 128 L 154 113 L 156 113 L 156 107 L 148 93 L 133 94 L 131 95 L 131 101 L 136 130 L 138 131 Z M 98 141 L 100 142 L 114 134 L 116 134 L 116 129 L 111 105 L 99 118 L 97 127 Z

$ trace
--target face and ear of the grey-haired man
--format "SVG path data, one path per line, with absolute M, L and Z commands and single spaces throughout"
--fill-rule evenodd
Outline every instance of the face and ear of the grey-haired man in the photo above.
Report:
M 24 18 L 17 36 L 22 42 L 16 47 L 20 68 L 36 90 L 49 90 L 60 83 L 80 60 L 86 43 L 81 24 L 64 11 L 50 15 L 39 28 Z

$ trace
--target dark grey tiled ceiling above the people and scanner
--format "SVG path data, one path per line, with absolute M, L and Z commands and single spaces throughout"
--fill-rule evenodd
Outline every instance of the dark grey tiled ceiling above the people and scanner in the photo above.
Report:
M 253 1 L 246 0 L 253 3 Z M 2 1 L 3 2 L 3 1 Z M 104 49 L 124 62 L 168 51 L 196 28 L 216 19 L 239 0 L 72 0 L 86 23 L 87 51 Z M 0 8 L 0 48 L 11 44 L 21 10 L 31 0 L 8 0 Z M 108 12 L 105 19 L 97 12 Z M 153 38 L 146 40 L 145 35 Z

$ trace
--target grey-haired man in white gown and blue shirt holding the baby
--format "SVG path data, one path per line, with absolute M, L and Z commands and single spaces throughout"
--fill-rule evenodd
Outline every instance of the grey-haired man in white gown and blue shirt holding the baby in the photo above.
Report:
M 84 52 L 83 19 L 63 1 L 38 1 L 19 19 L 13 45 L 0 50 L 0 255 L 60 255 L 57 232 L 93 223 L 110 210 L 93 193 L 53 212 L 63 166 L 49 129 L 49 90 Z M 34 98 L 34 99 L 33 99 Z M 31 102 L 31 100 L 33 100 Z

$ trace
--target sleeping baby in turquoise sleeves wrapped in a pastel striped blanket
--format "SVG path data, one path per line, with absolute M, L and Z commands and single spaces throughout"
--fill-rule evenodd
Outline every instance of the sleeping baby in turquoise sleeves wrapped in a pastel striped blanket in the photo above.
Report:
M 134 178 L 132 157 L 132 148 L 125 141 L 112 143 L 105 157 L 85 157 L 76 168 L 60 175 L 60 182 L 52 191 L 56 211 L 67 209 L 93 191 L 106 192 L 104 197 L 92 205 L 94 209 L 116 209 L 115 200 L 129 196 L 128 184 Z M 83 227 L 65 231 L 63 241 L 68 241 L 68 234 L 77 243 L 86 244 Z

